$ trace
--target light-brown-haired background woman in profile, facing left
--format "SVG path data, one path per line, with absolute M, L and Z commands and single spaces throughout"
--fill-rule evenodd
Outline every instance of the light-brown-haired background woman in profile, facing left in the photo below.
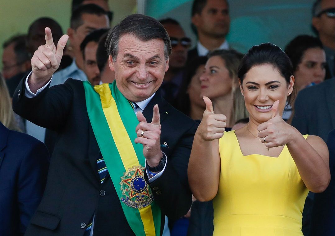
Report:
M 234 50 L 215 50 L 208 54 L 201 75 L 201 97 L 213 102 L 214 112 L 227 116 L 227 127 L 235 124 L 234 92 L 238 88 L 237 71 L 242 54 Z M 240 93 L 236 94 L 241 96 Z M 242 117 L 243 118 L 243 117 Z

